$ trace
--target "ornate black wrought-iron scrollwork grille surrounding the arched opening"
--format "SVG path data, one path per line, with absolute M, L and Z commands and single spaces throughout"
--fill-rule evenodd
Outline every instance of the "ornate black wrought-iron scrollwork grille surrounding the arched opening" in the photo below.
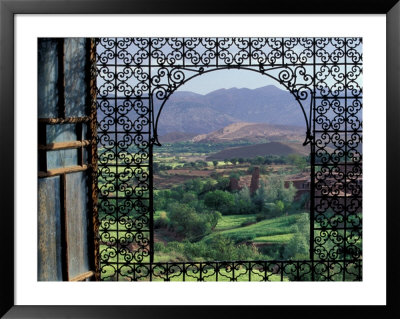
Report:
M 103 280 L 361 280 L 362 39 L 96 39 Z M 310 259 L 154 263 L 153 147 L 193 77 L 259 72 L 293 94 L 311 147 Z

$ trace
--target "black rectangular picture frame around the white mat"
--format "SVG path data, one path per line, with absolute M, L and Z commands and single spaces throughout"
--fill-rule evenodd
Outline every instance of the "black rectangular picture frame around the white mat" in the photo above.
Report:
M 16 306 L 14 302 L 14 16 L 16 14 L 386 14 L 387 45 L 387 305 L 386 306 L 263 306 L 256 307 L 268 316 L 312 318 L 359 318 L 366 315 L 380 318 L 400 317 L 398 294 L 400 276 L 399 239 L 396 227 L 396 180 L 400 162 L 400 3 L 399 0 L 336 0 L 336 1 L 257 1 L 216 2 L 204 0 L 0 0 L 0 196 L 2 254 L 0 262 L 0 315 L 4 318 L 158 318 L 158 317 L 247 317 L 246 306 Z M 389 174 L 390 172 L 390 174 Z M 265 308 L 267 307 L 267 308 Z M 254 311 L 251 309 L 250 311 Z

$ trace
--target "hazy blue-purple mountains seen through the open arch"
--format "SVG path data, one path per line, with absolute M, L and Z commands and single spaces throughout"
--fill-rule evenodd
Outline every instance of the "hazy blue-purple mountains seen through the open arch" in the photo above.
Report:
M 294 97 L 268 85 L 219 89 L 205 95 L 177 91 L 164 105 L 158 133 L 207 134 L 237 122 L 305 127 L 301 107 Z

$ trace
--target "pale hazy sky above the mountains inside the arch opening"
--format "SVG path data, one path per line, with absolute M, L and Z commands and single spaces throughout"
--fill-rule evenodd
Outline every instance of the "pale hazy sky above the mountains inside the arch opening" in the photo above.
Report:
M 277 81 L 258 72 L 248 70 L 217 70 L 189 80 L 179 88 L 179 91 L 207 94 L 221 88 L 256 89 L 271 84 L 284 89 Z

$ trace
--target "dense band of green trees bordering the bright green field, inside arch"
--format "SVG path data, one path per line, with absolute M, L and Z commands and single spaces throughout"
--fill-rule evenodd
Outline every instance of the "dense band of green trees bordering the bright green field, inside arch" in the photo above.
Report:
M 221 215 L 257 214 L 257 219 L 272 218 L 288 213 L 294 207 L 296 189 L 271 175 L 254 194 L 247 187 L 229 191 L 229 178 L 193 179 L 183 185 L 155 193 L 156 210 L 167 213 L 157 220 L 155 227 L 165 227 L 190 241 L 209 234 Z

